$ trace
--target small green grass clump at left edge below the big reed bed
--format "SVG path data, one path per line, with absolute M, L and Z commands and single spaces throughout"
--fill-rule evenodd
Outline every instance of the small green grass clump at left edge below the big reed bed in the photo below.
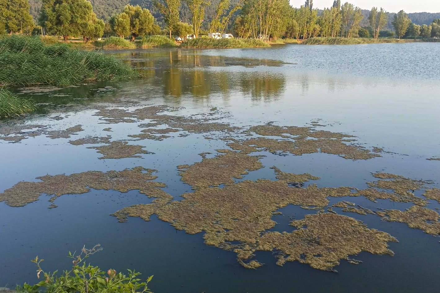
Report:
M 0 89 L 0 117 L 24 115 L 35 109 L 33 101 L 18 98 L 10 91 Z

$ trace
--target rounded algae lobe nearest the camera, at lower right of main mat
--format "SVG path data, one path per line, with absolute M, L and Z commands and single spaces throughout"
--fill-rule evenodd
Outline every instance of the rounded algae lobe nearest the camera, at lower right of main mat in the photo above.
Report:
M 334 213 L 306 215 L 291 225 L 297 228 L 292 233 L 268 232 L 262 235 L 257 250 L 279 251 L 279 265 L 298 261 L 312 268 L 333 271 L 340 260 L 350 261 L 348 256 L 363 251 L 393 255 L 388 242 L 397 242 L 388 233 L 369 229 L 360 221 Z

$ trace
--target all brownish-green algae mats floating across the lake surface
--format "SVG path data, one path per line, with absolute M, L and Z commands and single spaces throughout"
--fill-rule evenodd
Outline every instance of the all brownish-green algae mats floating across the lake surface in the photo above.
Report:
M 139 190 L 155 199 L 150 204 L 128 206 L 113 213 L 120 222 L 127 221 L 128 217 L 150 221 L 151 215 L 156 215 L 161 221 L 169 222 L 176 229 L 189 234 L 204 232 L 205 244 L 235 252 L 238 262 L 245 268 L 258 268 L 262 265 L 254 259 L 258 251 L 275 252 L 279 265 L 286 261 L 298 261 L 324 271 L 334 271 L 340 260 L 359 264 L 359 261 L 350 259 L 349 256 L 363 251 L 393 255 L 388 248 L 388 242 L 396 242 L 394 237 L 367 228 L 352 217 L 338 214 L 336 208 L 344 213 L 374 214 L 385 221 L 406 223 L 409 227 L 421 229 L 428 234 L 440 234 L 438 213 L 424 207 L 429 199 L 440 200 L 439 189 L 427 188 L 428 182 L 425 181 L 395 174 L 374 173 L 373 176 L 378 180 L 367 182 L 365 189 L 344 186 L 319 188 L 310 182 L 319 180 L 319 177 L 286 173 L 276 166 L 271 169 L 277 180 L 235 181 L 250 171 L 264 167 L 260 162 L 262 151 L 275 154 L 290 152 L 294 155 L 323 152 L 353 160 L 380 156 L 358 145 L 348 145 L 347 143 L 353 141 L 349 138 L 350 135 L 316 131 L 313 127 L 279 127 L 271 124 L 246 130 L 226 123 L 212 122 L 209 118 L 161 113 L 174 110 L 165 106 L 133 111 L 99 109 L 95 115 L 110 120 L 149 119 L 150 123 L 139 125 L 146 128 L 141 133 L 148 135 L 145 138 L 149 139 L 154 134 L 185 131 L 201 134 L 216 132 L 234 136 L 220 138 L 231 149 L 219 149 L 212 158 L 206 157 L 208 152 L 203 152 L 200 154 L 200 162 L 177 166 L 181 180 L 194 190 L 182 194 L 183 199 L 172 200 L 172 195 L 161 189 L 166 186 L 164 183 L 152 181 L 157 178 L 152 175 L 154 170 L 139 166 L 123 171 L 46 175 L 38 177 L 37 182 L 22 181 L 0 193 L 0 201 L 9 206 L 24 206 L 38 200 L 43 194 L 53 195 L 50 200 L 53 202 L 58 196 L 85 193 L 90 189 L 112 189 L 119 192 Z M 160 125 L 165 128 L 152 128 Z M 33 131 L 44 133 L 48 137 L 56 136 L 51 138 L 68 137 L 82 130 L 80 125 L 74 129 L 55 130 L 58 132 L 49 131 L 40 125 L 29 125 L 0 128 L 0 134 L 5 137 L 26 136 L 23 131 L 28 129 L 36 129 Z M 139 138 L 142 139 L 140 136 Z M 143 150 L 142 145 L 128 145 L 124 141 L 110 142 L 108 137 L 84 137 L 70 141 L 73 145 L 101 142 L 105 144 L 92 147 L 104 155 L 100 159 L 141 157 L 140 155 L 149 153 Z M 296 188 L 303 185 L 304 188 Z M 420 197 L 414 194 L 416 190 L 425 192 Z M 345 201 L 347 197 L 357 196 L 363 196 L 372 202 L 388 199 L 413 203 L 414 206 L 405 211 L 374 211 Z M 341 198 L 341 202 L 329 206 L 330 198 Z M 276 225 L 273 215 L 287 205 L 301 206 L 314 210 L 314 213 L 291 222 L 293 232 L 269 232 Z M 52 204 L 49 207 L 56 206 Z

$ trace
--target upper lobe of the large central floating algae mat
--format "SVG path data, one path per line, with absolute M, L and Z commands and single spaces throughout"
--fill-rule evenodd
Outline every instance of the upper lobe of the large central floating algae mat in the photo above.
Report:
M 204 158 L 202 162 L 191 166 L 178 166 L 182 181 L 193 188 L 219 186 L 223 183 L 233 183 L 234 178 L 242 178 L 249 171 L 261 169 L 263 165 L 259 159 L 262 156 L 248 156 L 244 153 L 231 150 L 218 150 L 224 155 L 215 158 Z

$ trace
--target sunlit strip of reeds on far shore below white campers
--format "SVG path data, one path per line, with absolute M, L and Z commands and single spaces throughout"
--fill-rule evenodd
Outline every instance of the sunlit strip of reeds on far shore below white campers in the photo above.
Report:
M 262 40 L 257 39 L 212 39 L 212 38 L 198 38 L 187 40 L 180 44 L 182 48 L 255 48 L 255 47 L 269 47 L 270 45 Z

